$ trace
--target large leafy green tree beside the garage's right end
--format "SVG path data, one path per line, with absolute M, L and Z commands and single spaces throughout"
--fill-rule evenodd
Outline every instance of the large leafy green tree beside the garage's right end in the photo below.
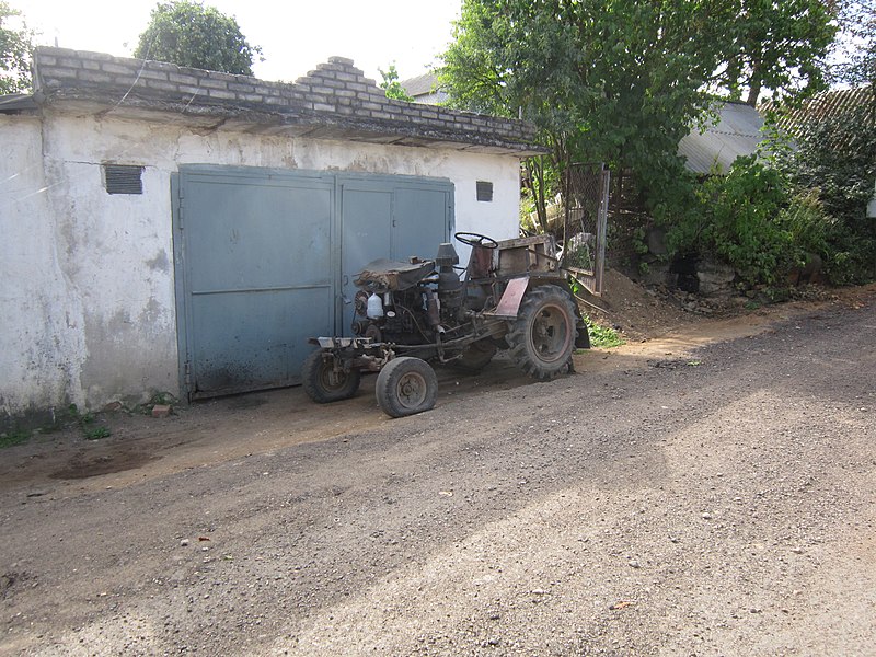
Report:
M 711 102 L 731 10 L 728 0 L 464 0 L 439 76 L 454 105 L 540 127 L 553 152 L 528 162 L 537 200 L 574 160 L 629 168 L 668 191 L 678 142 Z

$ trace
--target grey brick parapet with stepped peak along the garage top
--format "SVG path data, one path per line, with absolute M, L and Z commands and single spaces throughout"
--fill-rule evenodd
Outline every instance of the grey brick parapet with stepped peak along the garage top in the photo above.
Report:
M 353 61 L 332 57 L 295 83 L 183 68 L 160 61 L 41 47 L 34 55 L 38 97 L 116 105 L 277 116 L 289 124 L 327 123 L 430 140 L 532 150 L 534 128 L 514 119 L 387 99 Z M 267 118 L 265 118 L 267 120 Z M 529 146 L 529 149 L 527 149 Z M 540 149 L 535 147 L 535 150 Z

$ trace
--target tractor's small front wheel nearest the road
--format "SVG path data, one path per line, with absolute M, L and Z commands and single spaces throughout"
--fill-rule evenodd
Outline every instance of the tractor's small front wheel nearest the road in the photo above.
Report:
M 377 403 L 390 417 L 404 417 L 435 407 L 438 377 L 431 366 L 419 358 L 393 358 L 377 377 Z

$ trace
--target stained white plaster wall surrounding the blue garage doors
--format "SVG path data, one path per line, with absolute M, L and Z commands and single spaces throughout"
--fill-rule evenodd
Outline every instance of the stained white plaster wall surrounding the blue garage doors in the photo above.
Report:
M 456 228 L 517 235 L 512 157 L 193 134 L 145 123 L 47 114 L 0 116 L 0 414 L 180 394 L 171 175 L 181 164 L 358 171 L 449 178 Z M 8 145 L 8 146 L 7 146 Z M 145 166 L 142 195 L 108 195 L 102 163 Z M 494 185 L 479 203 L 477 181 Z M 11 311 L 10 311 L 11 309 Z

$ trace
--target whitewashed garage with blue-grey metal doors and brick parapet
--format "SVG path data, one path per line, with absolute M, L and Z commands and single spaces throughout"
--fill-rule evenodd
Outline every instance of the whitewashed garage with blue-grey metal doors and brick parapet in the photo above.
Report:
M 365 264 L 517 237 L 520 158 L 545 150 L 343 57 L 293 83 L 50 47 L 34 71 L 0 103 L 0 426 L 298 383 Z

